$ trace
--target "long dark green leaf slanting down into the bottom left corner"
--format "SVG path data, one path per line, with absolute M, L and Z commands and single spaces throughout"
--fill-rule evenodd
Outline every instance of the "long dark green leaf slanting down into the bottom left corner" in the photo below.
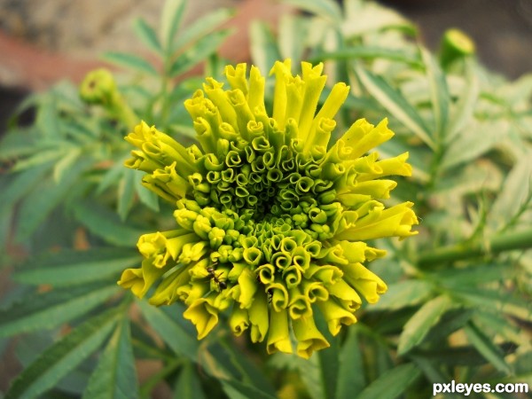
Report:
M 31 399 L 55 387 L 97 350 L 113 329 L 117 310 L 113 309 L 75 328 L 62 340 L 38 356 L 12 383 L 4 399 Z

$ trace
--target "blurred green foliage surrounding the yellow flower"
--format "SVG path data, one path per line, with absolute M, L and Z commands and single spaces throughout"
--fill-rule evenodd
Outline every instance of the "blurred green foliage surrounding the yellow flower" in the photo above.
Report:
M 432 54 L 411 21 L 378 4 L 286 3 L 303 12 L 252 25 L 253 64 L 324 62 L 330 84 L 351 87 L 336 131 L 387 116 L 396 136 L 380 155 L 410 152 L 413 176 L 390 201 L 415 202 L 420 234 L 376 243 L 388 254 L 372 270 L 388 292 L 305 361 L 267 356 L 223 322 L 198 341 L 180 305 L 153 308 L 116 286 L 141 260 L 139 235 L 173 223 L 123 167 L 123 137 L 143 119 L 192 144 L 183 102 L 203 81 L 192 67 L 223 80 L 233 63 L 217 55 L 235 35 L 221 28 L 231 10 L 183 29 L 186 2 L 168 0 L 157 27 L 134 25 L 153 58 L 105 54 L 123 68 L 120 106 L 61 82 L 27 98 L 0 142 L 0 240 L 31 254 L 0 254 L 16 263 L 0 350 L 14 346 L 23 367 L 4 398 L 426 398 L 451 379 L 532 385 L 532 75 L 491 74 L 459 35 L 447 38 L 450 57 Z M 21 127 L 28 108 L 35 122 Z

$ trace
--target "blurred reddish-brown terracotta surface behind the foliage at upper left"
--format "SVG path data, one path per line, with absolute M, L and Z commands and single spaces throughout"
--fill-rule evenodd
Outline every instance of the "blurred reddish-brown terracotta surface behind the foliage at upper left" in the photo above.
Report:
M 20 0 L 22 1 L 22 0 Z M 57 0 L 41 0 L 43 4 L 51 4 Z M 101 2 L 100 0 L 98 0 Z M 12 1 L 0 0 L 0 4 L 8 3 Z M 94 2 L 90 0 L 80 0 L 75 2 L 78 5 L 87 7 L 87 4 Z M 98 2 L 97 2 L 98 3 Z M 237 33 L 231 35 L 227 42 L 223 44 L 221 48 L 221 54 L 224 58 L 232 59 L 235 61 L 249 59 L 249 37 L 247 35 L 249 24 L 252 20 L 264 20 L 277 24 L 279 16 L 284 12 L 290 12 L 291 8 L 274 3 L 272 0 L 201 0 L 198 2 L 189 2 L 187 10 L 187 18 L 185 21 L 190 23 L 194 18 L 201 15 L 202 12 L 212 11 L 215 7 L 233 5 L 235 7 L 236 15 L 225 24 L 225 27 L 235 27 Z M 146 6 L 150 6 L 150 13 L 146 14 L 143 10 Z M 70 6 L 72 8 L 72 6 Z M 51 11 L 55 10 L 57 6 L 54 6 Z M 123 2 L 113 3 L 114 12 L 101 12 L 101 18 L 98 23 L 94 22 L 97 27 L 107 27 L 108 30 L 115 31 L 116 37 L 109 33 L 99 33 L 98 31 L 90 31 L 88 29 L 79 29 L 77 39 L 71 40 L 59 40 L 57 43 L 53 43 L 51 39 L 39 40 L 39 37 L 32 39 L 32 32 L 47 34 L 47 25 L 44 24 L 41 27 L 20 27 L 20 24 L 14 24 L 16 28 L 12 28 L 12 34 L 19 32 L 18 35 L 8 35 L 0 30 L 0 85 L 4 87 L 22 88 L 25 90 L 44 90 L 57 82 L 60 79 L 69 79 L 74 82 L 80 82 L 82 77 L 97 66 L 104 65 L 103 62 L 98 60 L 98 55 L 104 51 L 119 50 L 119 51 L 135 51 L 139 44 L 137 38 L 132 32 L 131 21 L 132 15 L 142 15 L 145 20 L 156 25 L 159 19 L 160 10 L 153 10 L 153 2 L 149 1 L 136 1 L 129 4 L 129 8 L 125 7 Z M 89 19 L 95 19 L 94 13 L 98 14 L 98 7 L 94 7 L 96 11 L 92 11 L 88 17 Z M 101 8 L 100 8 L 101 10 Z M 51 11 L 47 12 L 44 17 L 47 17 L 49 22 L 54 21 L 54 17 Z M 78 12 L 82 12 L 81 7 Z M 137 12 L 137 14 L 135 14 Z M 66 12 L 67 13 L 67 12 Z M 1 15 L 1 13 L 0 13 Z M 6 15 L 6 12 L 4 12 Z M 17 15 L 14 11 L 9 15 Z M 111 17 L 114 17 L 121 21 L 120 24 L 114 24 Z M 76 23 L 76 14 L 70 12 L 70 18 L 74 21 L 70 24 Z M 44 18 L 43 17 L 43 18 Z M 13 18 L 13 17 L 12 17 Z M 50 20 L 51 19 L 51 20 Z M 44 18 L 44 20 L 46 20 Z M 66 25 L 68 22 L 59 21 L 59 25 Z M 126 23 L 127 22 L 127 23 Z M 36 22 L 35 22 L 36 23 Z M 80 22 L 81 23 L 81 22 Z M 186 22 L 185 22 L 186 23 Z M 42 22 L 43 24 L 43 22 Z M 116 25 L 116 26 L 115 26 Z M 126 25 L 128 29 L 124 27 Z M 2 26 L 0 24 L 0 26 Z M 4 23 L 5 26 L 5 23 Z M 83 26 L 83 24 L 82 24 Z M 49 27 L 52 29 L 52 27 Z M 61 28 L 56 29 L 61 33 Z M 76 32 L 72 35 L 75 36 Z M 92 39 L 87 39 L 87 35 L 96 35 Z M 20 37 L 26 37 L 26 41 Z M 84 47 L 84 41 L 87 45 Z M 147 54 L 149 56 L 149 54 Z

